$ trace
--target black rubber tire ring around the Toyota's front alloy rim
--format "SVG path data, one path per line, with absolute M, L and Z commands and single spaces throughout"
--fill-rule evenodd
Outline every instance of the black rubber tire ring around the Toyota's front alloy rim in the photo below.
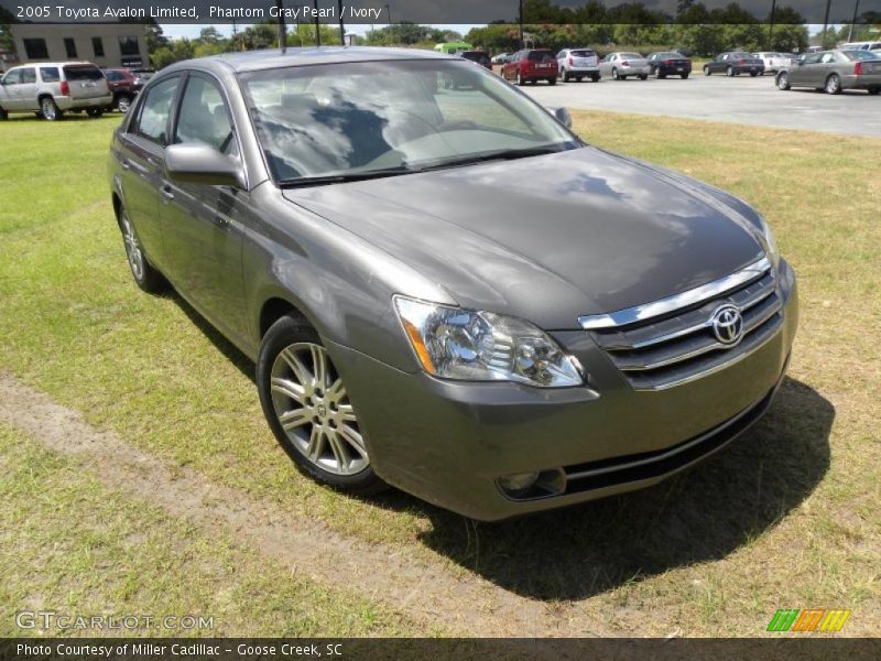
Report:
M 384 484 L 373 470 L 373 457 L 363 431 L 361 434 L 365 436 L 368 454 L 371 455 L 371 465 L 356 475 L 335 475 L 324 470 L 320 466 L 316 466 L 303 456 L 282 429 L 272 403 L 272 366 L 282 349 L 296 343 L 312 343 L 320 345 L 325 349 L 327 348 L 315 328 L 306 322 L 293 316 L 283 316 L 267 330 L 260 344 L 260 353 L 257 358 L 257 390 L 260 395 L 260 405 L 263 409 L 263 416 L 267 419 L 269 427 L 275 435 L 275 440 L 301 473 L 320 484 L 350 494 L 372 494 L 382 490 Z M 328 357 L 333 362 L 333 357 L 329 355 Z

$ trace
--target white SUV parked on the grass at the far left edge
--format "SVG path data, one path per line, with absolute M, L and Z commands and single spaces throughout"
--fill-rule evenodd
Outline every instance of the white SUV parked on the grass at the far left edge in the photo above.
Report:
M 90 62 L 25 64 L 0 78 L 0 119 L 35 112 L 52 121 L 68 110 L 99 117 L 112 102 L 104 72 Z

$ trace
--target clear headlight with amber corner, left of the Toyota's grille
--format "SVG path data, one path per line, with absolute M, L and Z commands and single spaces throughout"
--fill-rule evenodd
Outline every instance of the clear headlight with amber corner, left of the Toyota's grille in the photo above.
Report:
M 580 386 L 584 380 L 577 360 L 523 319 L 404 296 L 395 296 L 394 305 L 429 375 L 540 388 Z

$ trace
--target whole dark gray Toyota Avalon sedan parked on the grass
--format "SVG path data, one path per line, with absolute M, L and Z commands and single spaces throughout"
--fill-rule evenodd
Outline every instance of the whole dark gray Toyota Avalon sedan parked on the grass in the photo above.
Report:
M 281 445 L 345 491 L 492 520 L 654 484 L 768 409 L 795 333 L 755 210 L 457 57 L 170 66 L 109 176 L 138 284 L 253 358 Z

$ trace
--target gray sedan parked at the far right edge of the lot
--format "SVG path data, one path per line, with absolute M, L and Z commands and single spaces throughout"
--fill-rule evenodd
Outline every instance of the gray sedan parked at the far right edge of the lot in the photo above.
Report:
M 881 91 L 881 57 L 869 51 L 823 51 L 777 73 L 777 87 L 813 87 L 826 94 L 844 89 Z

